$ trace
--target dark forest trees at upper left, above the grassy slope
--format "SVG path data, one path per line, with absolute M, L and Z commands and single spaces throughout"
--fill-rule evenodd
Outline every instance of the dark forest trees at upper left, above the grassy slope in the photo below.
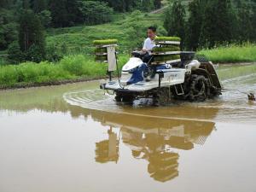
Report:
M 45 29 L 92 26 L 113 20 L 119 12 L 160 6 L 161 0 L 0 0 L 0 51 L 9 49 L 12 63 L 57 61 L 61 55 L 52 45 L 46 47 Z

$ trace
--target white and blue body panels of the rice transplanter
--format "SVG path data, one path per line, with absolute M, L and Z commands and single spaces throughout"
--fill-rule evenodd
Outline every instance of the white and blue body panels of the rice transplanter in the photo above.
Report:
M 154 77 L 150 79 L 144 78 L 142 71 L 142 79 L 140 81 L 132 82 L 135 72 L 140 70 L 139 68 L 145 65 L 140 58 L 132 57 L 125 66 L 122 68 L 122 75 L 119 80 L 109 81 L 104 85 L 106 90 L 129 90 L 135 92 L 152 90 L 159 87 L 159 81 L 161 87 L 168 87 L 176 84 L 183 84 L 185 74 L 190 74 L 192 70 L 195 70 L 201 66 L 199 61 L 193 60 L 185 66 L 185 68 L 172 67 L 170 64 L 161 65 L 156 67 Z M 160 79 L 160 73 L 163 76 Z M 160 80 L 159 80 L 160 79 Z

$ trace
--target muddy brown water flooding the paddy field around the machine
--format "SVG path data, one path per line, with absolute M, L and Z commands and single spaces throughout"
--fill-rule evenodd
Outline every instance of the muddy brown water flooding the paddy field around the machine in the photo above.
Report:
M 0 191 L 256 192 L 256 103 L 236 91 L 256 74 L 222 83 L 165 108 L 117 105 L 97 81 L 0 91 Z

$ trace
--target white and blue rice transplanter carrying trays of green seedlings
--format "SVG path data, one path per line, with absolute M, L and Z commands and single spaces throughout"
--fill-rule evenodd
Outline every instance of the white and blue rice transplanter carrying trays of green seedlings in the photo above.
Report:
M 117 70 L 116 41 L 96 41 L 96 59 L 108 62 L 108 72 Z M 99 44 L 101 46 L 99 47 Z M 158 37 L 148 61 L 133 52 L 122 68 L 121 77 L 101 84 L 103 90 L 113 90 L 117 102 L 132 103 L 150 98 L 156 106 L 171 103 L 173 99 L 205 101 L 221 94 L 221 84 L 211 61 L 194 52 L 180 51 L 180 38 Z

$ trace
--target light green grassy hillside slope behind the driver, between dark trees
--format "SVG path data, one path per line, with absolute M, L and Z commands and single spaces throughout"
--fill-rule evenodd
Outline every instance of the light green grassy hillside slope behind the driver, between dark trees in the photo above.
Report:
M 137 24 L 143 26 L 144 38 L 146 38 L 146 28 L 156 25 L 162 26 L 162 14 L 138 14 L 137 20 L 134 16 L 122 15 L 121 20 L 96 25 L 96 26 L 73 26 L 68 28 L 49 29 L 47 32 L 47 44 L 54 45 L 57 49 L 61 49 L 61 45 L 67 46 L 68 55 L 93 53 L 95 46 L 94 40 L 98 39 L 117 39 L 119 42 L 119 52 L 129 52 L 136 47 L 131 46 L 131 42 L 137 39 L 137 34 L 130 38 L 131 26 Z M 143 44 L 143 42 L 141 42 Z

